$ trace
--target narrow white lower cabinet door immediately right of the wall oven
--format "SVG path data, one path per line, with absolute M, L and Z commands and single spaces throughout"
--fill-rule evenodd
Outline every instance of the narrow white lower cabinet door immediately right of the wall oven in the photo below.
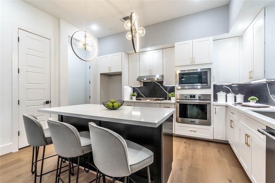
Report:
M 225 140 L 225 106 L 214 106 L 214 139 Z

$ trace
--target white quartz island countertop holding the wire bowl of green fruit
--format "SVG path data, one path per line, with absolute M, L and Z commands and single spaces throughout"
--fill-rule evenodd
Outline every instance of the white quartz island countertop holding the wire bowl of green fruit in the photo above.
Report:
M 147 127 L 158 127 L 168 117 L 175 113 L 175 109 L 121 106 L 119 109 L 110 110 L 99 104 L 82 104 L 38 109 L 38 112 Z M 66 121 L 64 122 L 66 123 Z

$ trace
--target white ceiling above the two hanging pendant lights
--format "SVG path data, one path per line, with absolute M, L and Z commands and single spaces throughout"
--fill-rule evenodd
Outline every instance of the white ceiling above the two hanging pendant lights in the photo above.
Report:
M 84 28 L 84 0 L 24 0 L 24 2 L 80 29 Z M 229 0 L 87 1 L 86 20 L 88 25 L 98 27 L 97 30 L 90 29 L 89 32 L 101 38 L 124 32 L 126 29 L 119 19 L 130 15 L 132 11 L 139 16 L 138 25 L 144 27 L 227 4 Z

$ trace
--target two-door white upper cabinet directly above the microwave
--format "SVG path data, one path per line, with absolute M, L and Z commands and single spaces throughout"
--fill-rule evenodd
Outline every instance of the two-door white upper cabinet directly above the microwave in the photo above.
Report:
M 175 66 L 212 63 L 213 38 L 175 43 Z

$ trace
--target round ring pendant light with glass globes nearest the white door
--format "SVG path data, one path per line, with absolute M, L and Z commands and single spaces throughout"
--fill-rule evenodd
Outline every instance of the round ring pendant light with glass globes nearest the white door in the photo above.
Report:
M 79 59 L 84 61 L 92 61 L 97 56 L 98 48 L 95 39 L 92 37 L 91 34 L 89 34 L 89 32 L 85 30 L 85 26 L 87 26 L 85 23 L 87 19 L 87 0 L 85 0 L 84 12 L 84 30 L 78 30 L 74 32 L 74 34 L 71 37 L 71 47 L 73 49 L 74 54 Z

